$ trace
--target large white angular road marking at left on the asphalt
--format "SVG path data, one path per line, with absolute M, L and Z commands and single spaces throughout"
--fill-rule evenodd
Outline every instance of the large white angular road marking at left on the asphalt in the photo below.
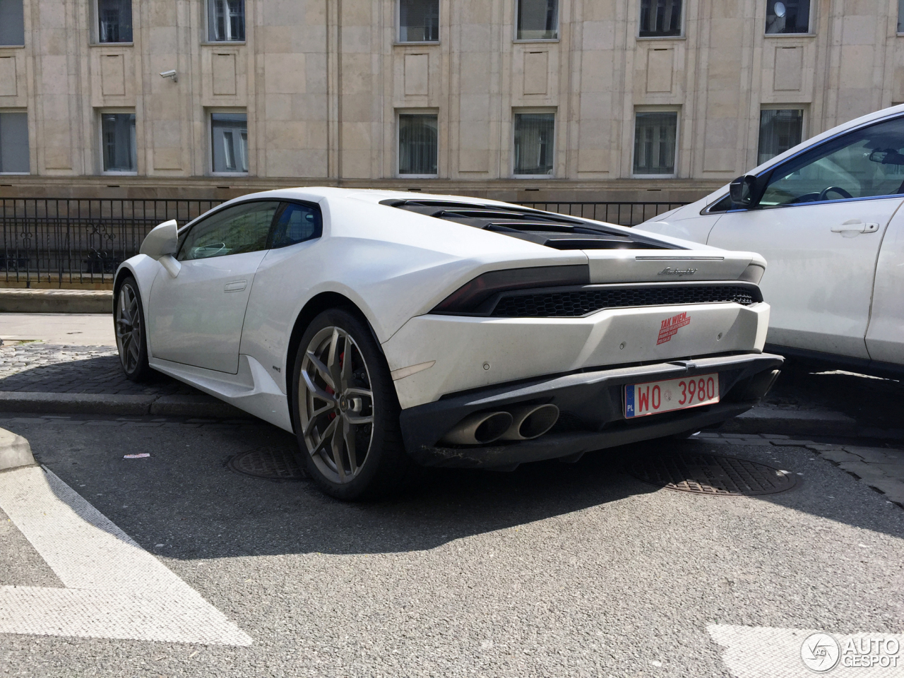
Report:
M 0 508 L 66 587 L 0 587 L 0 633 L 251 644 L 52 471 L 0 473 Z

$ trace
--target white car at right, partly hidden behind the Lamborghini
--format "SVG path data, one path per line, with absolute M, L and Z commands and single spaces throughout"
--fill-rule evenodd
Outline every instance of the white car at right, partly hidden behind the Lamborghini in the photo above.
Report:
M 795 146 L 636 228 L 754 250 L 772 306 L 767 349 L 904 371 L 904 106 Z

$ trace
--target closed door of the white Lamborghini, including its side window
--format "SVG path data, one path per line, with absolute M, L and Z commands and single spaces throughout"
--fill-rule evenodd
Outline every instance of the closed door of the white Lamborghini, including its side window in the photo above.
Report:
M 161 267 L 151 287 L 147 318 L 153 357 L 239 371 L 245 309 L 278 206 L 276 201 L 232 205 L 180 237 L 178 274 L 172 277 Z

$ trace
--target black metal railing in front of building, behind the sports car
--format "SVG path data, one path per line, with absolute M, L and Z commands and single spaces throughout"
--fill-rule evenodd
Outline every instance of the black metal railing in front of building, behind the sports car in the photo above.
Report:
M 147 231 L 179 225 L 221 200 L 0 198 L 0 283 L 106 286 L 134 256 Z M 547 212 L 635 226 L 685 202 L 522 202 Z

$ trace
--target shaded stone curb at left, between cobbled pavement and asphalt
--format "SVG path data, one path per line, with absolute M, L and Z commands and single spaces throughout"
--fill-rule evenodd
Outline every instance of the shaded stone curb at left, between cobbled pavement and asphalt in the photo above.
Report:
M 108 393 L 0 391 L 0 411 L 50 414 L 155 414 L 176 417 L 250 419 L 247 412 L 205 394 L 136 396 Z

